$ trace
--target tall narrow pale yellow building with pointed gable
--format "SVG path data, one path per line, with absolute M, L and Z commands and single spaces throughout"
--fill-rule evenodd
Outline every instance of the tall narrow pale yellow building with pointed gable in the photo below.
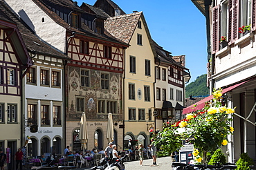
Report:
M 123 104 L 125 144 L 138 140 L 149 144 L 149 129 L 154 128 L 154 46 L 143 12 L 110 17 L 104 23 L 113 37 L 127 44 L 125 53 Z

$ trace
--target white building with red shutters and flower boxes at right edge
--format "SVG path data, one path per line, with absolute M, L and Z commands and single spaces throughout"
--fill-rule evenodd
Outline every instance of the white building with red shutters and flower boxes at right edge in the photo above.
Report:
M 210 89 L 223 88 L 227 106 L 237 107 L 232 121 L 234 135 L 228 137 L 223 153 L 227 153 L 228 162 L 236 162 L 245 152 L 256 160 L 256 1 L 192 1 L 206 18 Z

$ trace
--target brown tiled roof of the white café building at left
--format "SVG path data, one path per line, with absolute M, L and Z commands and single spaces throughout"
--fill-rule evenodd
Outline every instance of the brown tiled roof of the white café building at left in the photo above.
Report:
M 24 43 L 26 45 L 26 48 L 30 52 L 39 53 L 42 55 L 49 55 L 54 57 L 59 57 L 62 59 L 70 59 L 63 53 L 60 53 L 59 51 L 55 50 L 53 47 L 46 44 L 42 39 L 39 39 L 37 35 L 32 32 L 29 27 L 24 23 L 24 21 L 21 21 L 17 14 L 13 12 L 13 10 L 8 6 L 8 4 L 5 1 L 0 1 L 0 10 L 3 12 L 6 16 L 8 16 L 19 28 L 19 32 L 21 33 L 21 37 L 24 40 Z

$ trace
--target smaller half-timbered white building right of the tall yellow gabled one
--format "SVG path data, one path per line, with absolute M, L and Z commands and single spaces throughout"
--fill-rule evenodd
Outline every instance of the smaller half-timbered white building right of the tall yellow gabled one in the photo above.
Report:
M 156 86 L 154 116 L 156 131 L 163 129 L 163 123 L 174 123 L 183 118 L 185 107 L 185 83 L 190 80 L 190 72 L 185 68 L 185 55 L 172 56 L 154 41 L 156 50 Z

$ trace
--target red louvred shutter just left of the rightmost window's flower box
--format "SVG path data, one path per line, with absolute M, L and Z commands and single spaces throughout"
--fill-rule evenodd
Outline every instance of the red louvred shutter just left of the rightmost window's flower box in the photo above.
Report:
M 237 40 L 239 39 L 239 0 L 235 0 L 234 1 L 234 21 L 233 21 L 233 28 L 234 30 L 232 31 L 233 32 L 233 40 Z

